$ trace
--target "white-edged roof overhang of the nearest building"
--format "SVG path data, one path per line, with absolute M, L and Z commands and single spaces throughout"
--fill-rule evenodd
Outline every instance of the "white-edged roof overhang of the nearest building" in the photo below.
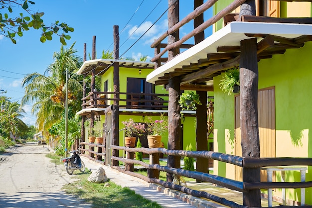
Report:
M 303 35 L 312 35 L 312 24 L 231 22 L 202 42 L 158 67 L 147 76 L 147 82 L 155 84 L 159 78 L 174 72 L 175 69 L 189 66 L 190 63 L 197 63 L 200 59 L 207 59 L 207 54 L 218 53 L 217 48 L 219 46 L 240 46 L 242 40 L 254 38 L 246 34 L 269 34 L 285 38 L 297 38 Z M 258 42 L 262 39 L 258 38 Z

